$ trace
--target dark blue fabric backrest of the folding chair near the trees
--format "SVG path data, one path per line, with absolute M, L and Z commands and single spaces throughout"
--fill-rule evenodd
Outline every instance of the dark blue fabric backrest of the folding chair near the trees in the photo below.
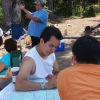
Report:
M 11 24 L 12 38 L 18 40 L 23 36 L 23 24 Z

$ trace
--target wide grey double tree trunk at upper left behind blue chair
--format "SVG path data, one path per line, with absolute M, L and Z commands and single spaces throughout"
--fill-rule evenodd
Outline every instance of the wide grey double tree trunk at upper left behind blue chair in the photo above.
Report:
M 4 25 L 7 28 L 10 28 L 12 23 L 21 22 L 20 2 L 21 0 L 2 0 Z

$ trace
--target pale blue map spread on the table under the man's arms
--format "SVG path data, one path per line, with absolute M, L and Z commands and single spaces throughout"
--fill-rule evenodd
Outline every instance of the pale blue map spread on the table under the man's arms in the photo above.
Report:
M 57 89 L 18 92 L 11 82 L 0 91 L 0 100 L 60 100 L 60 98 Z

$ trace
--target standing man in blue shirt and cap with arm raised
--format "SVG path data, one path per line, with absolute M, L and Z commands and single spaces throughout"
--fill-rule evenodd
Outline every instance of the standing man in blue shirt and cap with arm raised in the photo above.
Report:
M 48 13 L 44 9 L 45 5 L 45 0 L 36 0 L 36 11 L 33 13 L 25 9 L 23 5 L 20 5 L 20 8 L 26 13 L 26 18 L 31 20 L 28 25 L 28 34 L 31 36 L 32 47 L 39 43 L 41 32 L 46 27 L 48 22 Z

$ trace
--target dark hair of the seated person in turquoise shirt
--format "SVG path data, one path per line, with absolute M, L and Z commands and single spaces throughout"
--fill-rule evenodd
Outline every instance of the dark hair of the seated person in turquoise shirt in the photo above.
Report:
M 13 38 L 9 38 L 5 40 L 4 43 L 4 48 L 6 49 L 7 52 L 11 52 L 13 50 L 17 50 L 17 42 Z

